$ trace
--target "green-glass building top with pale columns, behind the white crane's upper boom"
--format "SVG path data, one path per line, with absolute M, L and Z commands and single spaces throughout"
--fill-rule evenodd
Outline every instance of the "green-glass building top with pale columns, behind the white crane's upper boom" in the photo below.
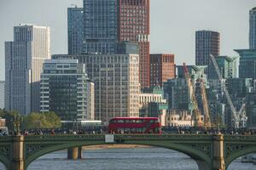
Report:
M 223 78 L 236 78 L 237 75 L 237 57 L 229 57 L 229 56 L 217 56 L 215 57 L 216 62 L 218 64 L 218 69 Z M 209 73 L 208 79 L 218 79 L 218 75 L 216 73 L 215 67 L 210 61 L 208 65 Z

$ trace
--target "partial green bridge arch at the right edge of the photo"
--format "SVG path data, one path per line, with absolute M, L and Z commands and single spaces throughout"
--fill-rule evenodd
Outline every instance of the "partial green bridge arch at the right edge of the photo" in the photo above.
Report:
M 255 152 L 256 152 L 256 146 L 252 146 L 252 147 L 248 147 L 248 148 L 243 149 L 243 150 L 237 150 L 237 151 L 232 152 L 232 154 L 230 156 L 225 158 L 226 168 L 228 169 L 231 162 L 235 161 L 236 158 L 238 158 L 240 156 L 245 156 L 247 154 L 255 153 Z

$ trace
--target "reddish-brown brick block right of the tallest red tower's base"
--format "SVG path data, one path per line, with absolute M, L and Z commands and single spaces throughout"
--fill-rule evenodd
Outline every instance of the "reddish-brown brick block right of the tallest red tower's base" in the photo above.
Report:
M 162 87 L 175 78 L 174 54 L 150 54 L 150 86 Z

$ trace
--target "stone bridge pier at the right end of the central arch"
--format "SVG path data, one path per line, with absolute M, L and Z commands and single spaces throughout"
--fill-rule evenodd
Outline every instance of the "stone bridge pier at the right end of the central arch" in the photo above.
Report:
M 213 170 L 225 170 L 224 136 L 218 133 L 213 136 Z

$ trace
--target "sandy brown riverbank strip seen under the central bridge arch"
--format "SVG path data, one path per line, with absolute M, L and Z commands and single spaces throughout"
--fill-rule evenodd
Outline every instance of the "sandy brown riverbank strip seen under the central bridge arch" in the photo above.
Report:
M 113 149 L 113 148 L 149 148 L 152 146 L 148 145 L 138 145 L 138 144 L 99 144 L 99 145 L 90 145 L 83 146 L 83 150 L 101 150 L 101 149 Z

